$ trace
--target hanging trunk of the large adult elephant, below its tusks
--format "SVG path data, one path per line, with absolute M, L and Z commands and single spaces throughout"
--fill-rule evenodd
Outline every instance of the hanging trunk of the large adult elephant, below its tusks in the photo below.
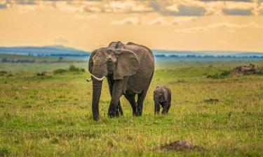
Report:
M 93 101 L 92 101 L 92 110 L 93 110 L 93 120 L 99 120 L 99 102 L 100 94 L 102 91 L 102 81 L 93 80 Z

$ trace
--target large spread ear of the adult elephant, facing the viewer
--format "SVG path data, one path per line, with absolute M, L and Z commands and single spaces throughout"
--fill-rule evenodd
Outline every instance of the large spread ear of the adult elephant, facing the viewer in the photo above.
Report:
M 114 54 L 118 61 L 114 71 L 114 80 L 122 80 L 124 76 L 135 75 L 140 67 L 140 61 L 137 55 L 124 49 L 115 49 Z

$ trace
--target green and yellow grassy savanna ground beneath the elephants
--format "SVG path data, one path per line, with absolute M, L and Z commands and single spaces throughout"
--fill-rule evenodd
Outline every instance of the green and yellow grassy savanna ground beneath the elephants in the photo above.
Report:
M 87 63 L 0 63 L 0 156 L 262 156 L 263 75 L 207 78 L 246 63 L 156 63 L 142 117 L 122 97 L 123 117 L 109 119 L 105 80 L 100 121 L 92 117 L 89 74 L 53 73 Z M 166 116 L 154 115 L 159 84 L 173 92 Z M 205 149 L 160 149 L 175 140 Z

